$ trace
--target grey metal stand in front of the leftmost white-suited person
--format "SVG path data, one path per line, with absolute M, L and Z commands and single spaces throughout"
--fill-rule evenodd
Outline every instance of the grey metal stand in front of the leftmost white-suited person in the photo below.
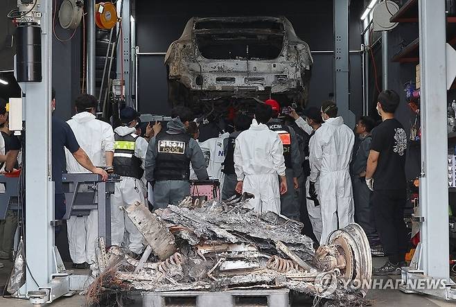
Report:
M 98 210 L 98 237 L 105 238 L 111 245 L 111 195 L 114 184 L 120 176 L 110 175 L 107 182 L 100 175 L 78 173 L 63 174 L 62 182 L 67 203 L 64 220 L 70 216 L 88 216 L 91 210 Z

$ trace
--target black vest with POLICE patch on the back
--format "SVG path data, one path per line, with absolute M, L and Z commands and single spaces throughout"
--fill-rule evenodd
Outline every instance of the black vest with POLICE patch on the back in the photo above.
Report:
M 159 133 L 155 139 L 157 159 L 154 178 L 163 180 L 188 180 L 190 177 L 190 159 L 185 152 L 190 136 L 185 133 Z

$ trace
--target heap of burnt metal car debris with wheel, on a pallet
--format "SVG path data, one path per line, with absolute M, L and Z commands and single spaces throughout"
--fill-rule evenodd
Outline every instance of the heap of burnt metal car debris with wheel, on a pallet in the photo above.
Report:
M 328 245 L 315 252 L 313 241 L 301 234 L 301 222 L 252 211 L 245 201 L 195 204 L 188 198 L 154 213 L 139 203 L 128 207 L 128 216 L 149 243 L 146 252 L 141 259 L 118 246 L 103 253 L 100 240 L 97 277 L 87 290 L 87 302 L 132 290 L 288 288 L 339 306 L 369 305 L 366 290 L 347 286 L 371 279 L 369 243 L 359 225 L 335 231 Z M 150 229 L 163 229 L 163 234 L 152 239 Z

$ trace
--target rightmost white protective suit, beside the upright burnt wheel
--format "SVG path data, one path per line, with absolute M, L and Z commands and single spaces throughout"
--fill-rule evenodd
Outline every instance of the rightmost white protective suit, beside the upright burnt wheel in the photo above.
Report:
M 317 195 L 322 207 L 322 237 L 320 244 L 332 231 L 353 222 L 354 204 L 349 166 L 355 135 L 344 125 L 341 116 L 328 119 L 314 135 L 309 161 L 316 168 L 310 181 L 319 180 Z

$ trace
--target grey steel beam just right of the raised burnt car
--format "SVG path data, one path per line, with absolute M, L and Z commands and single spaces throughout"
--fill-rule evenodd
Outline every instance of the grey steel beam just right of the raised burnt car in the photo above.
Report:
M 349 105 L 349 0 L 334 0 L 334 99 L 339 114 L 355 127 Z

